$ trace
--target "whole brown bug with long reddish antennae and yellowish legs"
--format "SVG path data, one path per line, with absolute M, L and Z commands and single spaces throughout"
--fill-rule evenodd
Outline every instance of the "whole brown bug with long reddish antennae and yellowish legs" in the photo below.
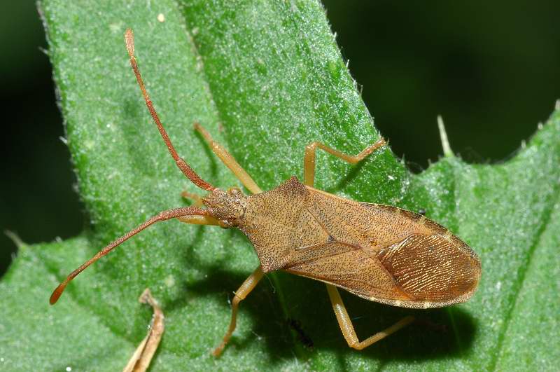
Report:
M 175 151 L 142 81 L 134 57 L 132 30 L 127 29 L 125 41 L 142 95 L 169 153 L 181 172 L 209 194 L 204 198 L 194 197 L 195 205 L 192 207 L 160 212 L 104 247 L 59 284 L 50 297 L 51 304 L 58 300 L 66 285 L 91 263 L 144 228 L 168 219 L 239 228 L 253 243 L 260 260 L 260 266 L 235 292 L 230 326 L 222 343 L 213 352 L 216 356 L 221 354 L 235 330 L 239 302 L 255 288 L 265 273 L 274 270 L 325 282 L 342 334 L 348 345 L 357 350 L 381 340 L 414 318 L 405 317 L 360 342 L 337 287 L 366 300 L 402 308 L 439 308 L 467 301 L 472 296 L 481 273 L 480 260 L 447 228 L 398 207 L 347 200 L 313 188 L 316 149 L 356 164 L 384 146 L 383 139 L 357 156 L 313 142 L 305 148 L 304 182 L 292 177 L 280 186 L 263 192 L 235 158 L 214 142 L 204 128 L 195 124 L 195 130 L 207 140 L 216 156 L 253 195 L 244 195 L 239 188 L 223 191 L 200 178 Z M 206 208 L 201 208 L 202 205 Z

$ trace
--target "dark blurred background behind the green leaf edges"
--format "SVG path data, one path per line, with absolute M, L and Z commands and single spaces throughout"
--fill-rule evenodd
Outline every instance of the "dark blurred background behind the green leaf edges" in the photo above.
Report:
M 323 4 L 375 125 L 414 172 L 442 153 L 438 114 L 456 153 L 496 163 L 560 98 L 560 1 Z M 34 1 L 1 8 L 0 228 L 27 243 L 71 237 L 85 221 L 41 20 Z M 0 234 L 0 275 L 14 254 Z

